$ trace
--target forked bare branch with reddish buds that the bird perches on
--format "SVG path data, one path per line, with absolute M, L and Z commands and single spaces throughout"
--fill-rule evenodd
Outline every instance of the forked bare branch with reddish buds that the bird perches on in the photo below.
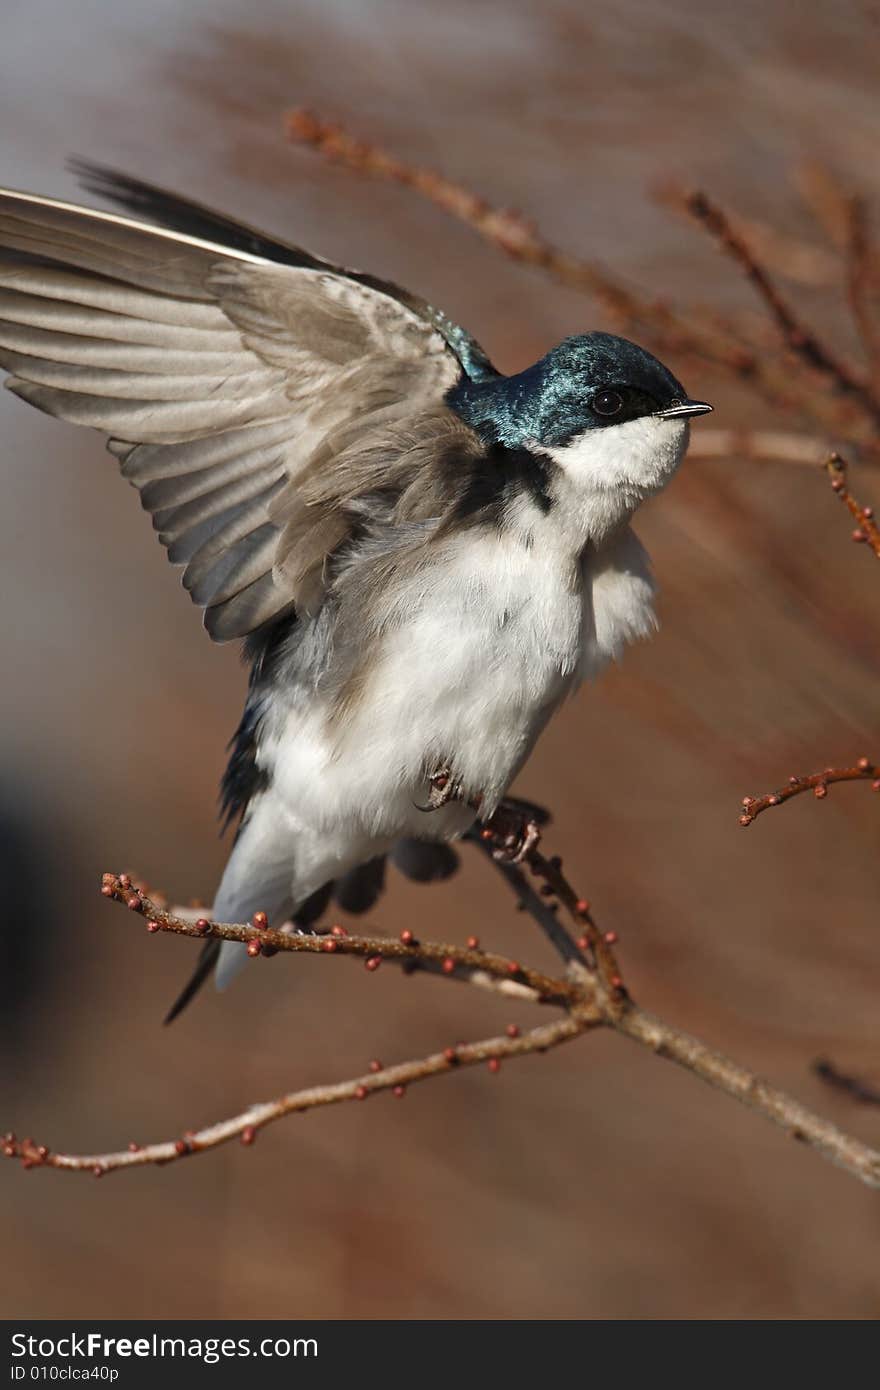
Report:
M 457 1066 L 487 1062 L 489 1069 L 496 1072 L 505 1058 L 548 1051 L 603 1024 L 649 1048 L 658 1056 L 677 1062 L 701 1080 L 748 1105 L 861 1182 L 872 1187 L 880 1186 L 880 1152 L 844 1134 L 792 1097 L 762 1081 L 747 1068 L 713 1051 L 698 1038 L 690 1037 L 637 1008 L 623 988 L 620 976 L 610 973 L 617 970 L 612 951 L 616 941 L 614 933 L 599 931 L 589 905 L 577 897 L 563 876 L 559 860 L 546 859 L 537 849 L 530 852 L 530 860 L 532 872 L 544 887 L 551 890 L 578 927 L 584 930 L 584 935 L 576 942 L 559 923 L 553 929 L 549 929 L 548 920 L 542 923 L 556 949 L 567 962 L 569 979 L 566 980 L 549 980 L 539 972 L 513 962 L 516 974 L 523 980 L 530 980 L 530 988 L 542 1001 L 564 1009 L 564 1016 L 557 1023 L 531 1029 L 524 1034 L 520 1034 L 519 1027 L 512 1024 L 503 1037 L 456 1044 L 446 1047 L 442 1052 L 402 1062 L 398 1066 L 384 1068 L 374 1062 L 364 1076 L 295 1091 L 274 1101 L 252 1105 L 231 1119 L 207 1129 L 185 1131 L 179 1138 L 160 1144 L 131 1144 L 128 1150 L 120 1152 L 76 1155 L 54 1152 L 47 1145 L 36 1144 L 31 1138 L 18 1140 L 15 1134 L 6 1134 L 0 1141 L 1 1154 L 19 1159 L 25 1168 L 58 1168 L 72 1172 L 92 1172 L 97 1176 L 120 1168 L 167 1163 L 215 1148 L 232 1138 L 241 1138 L 242 1143 L 250 1144 L 259 1129 L 284 1115 L 320 1105 L 335 1105 L 341 1101 L 366 1099 L 373 1091 L 392 1090 L 396 1095 L 402 1095 L 406 1086 L 434 1076 L 450 1074 Z M 552 910 L 541 903 L 541 895 L 534 894 L 516 865 L 499 863 L 498 867 L 510 885 L 521 894 L 527 910 L 531 910 L 537 919 L 553 917 Z M 313 951 L 325 956 L 349 954 L 364 958 L 367 967 L 375 969 L 371 962 L 377 959 L 396 962 L 405 962 L 410 958 L 424 959 L 434 966 L 439 959 L 439 952 L 446 951 L 448 955 L 443 959 L 452 960 L 453 965 L 449 972 L 443 970 L 445 977 L 455 979 L 456 970 L 462 967 L 485 972 L 492 979 L 500 979 L 502 972 L 506 972 L 507 976 L 512 973 L 512 962 L 480 952 L 478 947 L 471 942 L 463 949 L 409 940 L 396 942 L 385 937 L 349 937 L 331 933 L 314 937 L 311 944 L 306 944 L 309 938 L 304 934 L 286 934 L 264 927 L 260 913 L 256 915 L 259 919 L 256 924 L 250 926 L 225 926 L 206 919 L 192 923 L 175 917 L 146 898 L 127 874 L 118 878 L 114 874 L 104 876 L 101 891 L 106 897 L 124 902 L 138 915 L 146 916 L 147 930 L 153 933 L 164 931 L 190 937 L 214 935 L 225 941 L 242 941 L 254 947 L 254 955 L 263 955 L 266 948 L 268 948 L 268 954 L 275 951 Z M 412 956 L 407 956 L 406 952 L 412 952 Z M 589 956 L 592 965 L 584 960 L 582 952 Z M 474 956 L 478 959 L 474 960 Z

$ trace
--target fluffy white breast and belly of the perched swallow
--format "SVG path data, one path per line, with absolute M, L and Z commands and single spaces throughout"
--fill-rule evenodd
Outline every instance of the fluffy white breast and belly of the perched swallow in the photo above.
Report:
M 355 817 L 377 838 L 456 834 L 462 808 L 424 815 L 425 769 L 449 763 L 491 809 L 570 689 L 653 626 L 646 557 L 627 530 L 573 566 L 534 535 L 466 531 L 442 563 L 389 595 L 363 698 L 331 728 L 316 701 L 271 751 L 274 780 L 309 824 Z

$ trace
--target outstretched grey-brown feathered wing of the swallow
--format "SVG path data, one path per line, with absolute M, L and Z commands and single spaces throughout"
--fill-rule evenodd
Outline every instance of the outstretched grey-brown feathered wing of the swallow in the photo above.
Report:
M 417 417 L 492 368 L 403 291 L 86 177 L 170 225 L 0 192 L 0 366 L 22 399 L 108 436 L 210 635 L 247 635 L 296 603 L 298 478 L 352 428 Z M 316 527 L 313 569 L 348 534 L 327 509 Z

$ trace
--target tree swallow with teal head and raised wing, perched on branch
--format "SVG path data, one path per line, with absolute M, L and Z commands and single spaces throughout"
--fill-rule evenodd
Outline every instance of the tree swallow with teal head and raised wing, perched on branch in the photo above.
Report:
M 213 915 L 363 909 L 388 855 L 442 876 L 563 699 L 653 631 L 630 520 L 712 407 L 602 332 L 505 377 L 396 285 L 76 170 L 149 221 L 1 192 L 0 366 L 107 435 L 210 637 L 245 639 Z M 217 956 L 235 973 L 215 945 L 172 1013 Z

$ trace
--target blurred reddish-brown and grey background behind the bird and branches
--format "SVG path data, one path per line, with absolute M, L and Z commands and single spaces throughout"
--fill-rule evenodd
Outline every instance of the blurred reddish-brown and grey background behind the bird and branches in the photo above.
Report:
M 292 149 L 285 108 L 523 208 L 646 292 L 748 313 L 748 285 L 652 188 L 702 183 L 815 240 L 804 161 L 880 192 L 879 44 L 867 0 L 6 0 L 0 178 L 75 197 L 79 153 L 178 188 L 412 286 L 517 370 L 601 327 L 595 306 Z M 797 295 L 847 342 L 833 272 Z M 776 423 L 741 389 L 685 379 L 715 425 Z M 147 937 L 100 873 L 210 899 L 245 673 L 115 471 L 97 436 L 0 400 L 0 1129 L 85 1151 L 174 1137 L 371 1056 L 531 1022 L 473 990 L 303 958 L 161 1027 L 196 947 Z M 874 473 L 859 486 L 880 503 Z M 548 845 L 620 933 L 646 1008 L 877 1144 L 880 1109 L 810 1073 L 830 1055 L 880 1077 L 876 798 L 833 787 L 737 826 L 747 792 L 880 759 L 877 573 L 848 530 L 819 470 L 687 466 L 638 520 L 659 638 L 556 719 L 517 790 L 553 808 Z M 413 922 L 551 963 L 475 859 L 441 887 L 396 878 L 375 926 Z M 880 1312 L 877 1195 L 603 1036 L 165 1170 L 4 1165 L 0 1220 L 7 1318 Z

